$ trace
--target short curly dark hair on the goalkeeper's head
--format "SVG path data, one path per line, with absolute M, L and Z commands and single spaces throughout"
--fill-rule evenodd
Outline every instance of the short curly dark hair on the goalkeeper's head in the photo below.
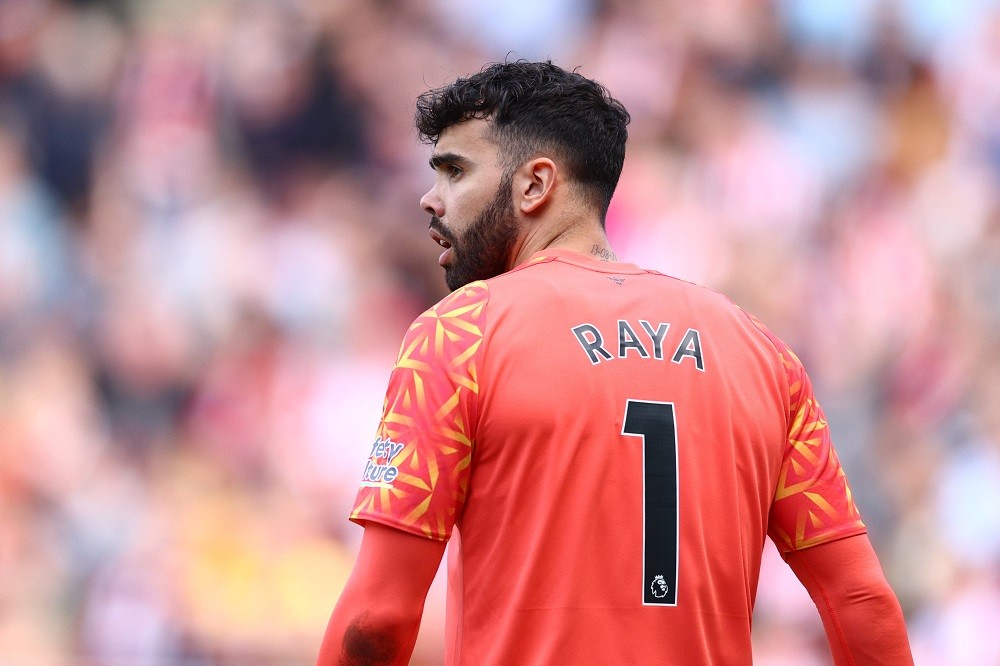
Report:
M 628 111 L 600 83 L 551 61 L 501 62 L 417 98 L 422 141 L 488 119 L 508 173 L 538 151 L 561 161 L 603 223 L 625 161 Z

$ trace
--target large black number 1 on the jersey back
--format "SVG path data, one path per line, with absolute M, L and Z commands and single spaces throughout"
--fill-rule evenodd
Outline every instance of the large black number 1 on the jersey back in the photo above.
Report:
M 642 437 L 642 603 L 677 605 L 677 425 L 672 402 L 629 400 L 623 435 Z

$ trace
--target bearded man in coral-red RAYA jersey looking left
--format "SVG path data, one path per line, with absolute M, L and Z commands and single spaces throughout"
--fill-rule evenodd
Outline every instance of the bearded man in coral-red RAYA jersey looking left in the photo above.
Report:
M 765 535 L 836 663 L 910 663 L 799 360 L 609 247 L 621 104 L 507 62 L 416 122 L 454 291 L 403 341 L 320 663 L 406 663 L 449 539 L 450 664 L 749 663 Z

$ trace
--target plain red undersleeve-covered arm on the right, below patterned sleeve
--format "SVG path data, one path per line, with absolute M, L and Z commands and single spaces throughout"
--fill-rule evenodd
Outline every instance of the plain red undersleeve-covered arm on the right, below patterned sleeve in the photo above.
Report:
M 787 557 L 815 602 L 837 666 L 912 664 L 906 623 L 867 537 Z

